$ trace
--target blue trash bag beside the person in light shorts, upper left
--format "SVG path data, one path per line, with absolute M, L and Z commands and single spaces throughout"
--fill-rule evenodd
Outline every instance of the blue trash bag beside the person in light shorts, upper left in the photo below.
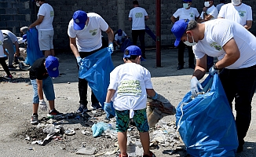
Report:
M 27 31 L 27 57 L 24 61 L 27 65 L 32 65 L 38 58 L 44 57 L 39 48 L 38 30 L 32 27 Z

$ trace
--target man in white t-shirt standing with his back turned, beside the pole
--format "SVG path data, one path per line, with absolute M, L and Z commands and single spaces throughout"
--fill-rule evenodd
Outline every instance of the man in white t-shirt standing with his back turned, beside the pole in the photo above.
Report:
M 133 9 L 130 10 L 129 20 L 132 21 L 132 38 L 133 45 L 137 46 L 137 37 L 141 42 L 142 57 L 146 58 L 145 55 L 145 20 L 148 20 L 148 13 L 144 8 L 139 6 L 139 2 L 133 1 Z

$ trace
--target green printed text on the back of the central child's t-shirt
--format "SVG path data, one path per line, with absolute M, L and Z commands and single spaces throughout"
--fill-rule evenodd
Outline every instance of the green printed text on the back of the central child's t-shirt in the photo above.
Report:
M 125 80 L 120 83 L 117 93 L 121 95 L 127 93 L 130 95 L 141 95 L 142 91 L 140 82 L 137 80 Z

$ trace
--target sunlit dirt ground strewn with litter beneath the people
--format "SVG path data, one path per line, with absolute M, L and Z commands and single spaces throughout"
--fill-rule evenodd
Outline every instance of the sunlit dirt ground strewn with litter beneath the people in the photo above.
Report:
M 177 71 L 177 49 L 161 50 L 161 67 L 156 68 L 155 49 L 147 49 L 146 61 L 141 64 L 148 68 L 152 74 L 152 83 L 157 93 L 162 94 L 175 107 L 190 89 L 190 78 L 193 70 L 188 68 L 188 53 L 185 52 L 185 68 Z M 89 111 L 88 115 L 79 117 L 75 115 L 75 110 L 79 106 L 78 92 L 78 70 L 75 64 L 75 57 L 72 53 L 59 53 L 60 77 L 53 79 L 56 93 L 56 108 L 64 113 L 63 119 L 49 120 L 46 112 L 38 110 L 39 119 L 42 122 L 61 124 L 64 130 L 74 129 L 75 134 L 67 136 L 64 133 L 57 133 L 57 136 L 49 139 L 43 145 L 31 144 L 31 141 L 42 140 L 46 133 L 42 129 L 30 124 L 32 112 L 33 90 L 29 85 L 28 71 L 11 71 L 14 79 L 7 81 L 2 78 L 5 71 L 0 68 L 0 154 L 1 156 L 82 156 L 75 152 L 78 148 L 95 148 L 95 154 L 111 152 L 116 149 L 115 138 L 109 136 L 93 137 L 92 122 L 108 122 L 104 119 L 102 111 Z M 113 53 L 112 60 L 115 66 L 123 64 L 123 54 Z M 90 90 L 89 90 L 90 93 Z M 88 94 L 90 100 L 90 94 Z M 252 103 L 252 121 L 244 144 L 244 151 L 237 154 L 237 157 L 256 156 L 256 100 Z M 90 102 L 89 106 L 90 108 Z M 175 116 L 167 116 L 162 122 L 173 123 Z M 82 131 L 84 131 L 83 134 Z M 151 138 L 152 138 L 151 130 Z M 130 131 L 131 137 L 137 137 L 137 131 Z M 28 139 L 28 137 L 30 139 Z M 27 138 L 27 140 L 25 140 Z M 164 147 L 156 144 L 152 147 L 152 152 L 156 156 L 174 157 L 188 156 L 185 146 L 174 144 L 174 147 Z M 117 153 L 105 156 L 116 156 Z M 93 156 L 93 155 L 86 155 Z M 103 155 L 99 155 L 103 156 Z

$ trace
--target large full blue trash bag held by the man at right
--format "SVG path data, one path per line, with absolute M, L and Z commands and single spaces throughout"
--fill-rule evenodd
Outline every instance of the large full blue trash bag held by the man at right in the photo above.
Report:
M 236 122 L 218 74 L 202 82 L 203 94 L 188 92 L 176 109 L 176 125 L 192 156 L 236 156 Z

